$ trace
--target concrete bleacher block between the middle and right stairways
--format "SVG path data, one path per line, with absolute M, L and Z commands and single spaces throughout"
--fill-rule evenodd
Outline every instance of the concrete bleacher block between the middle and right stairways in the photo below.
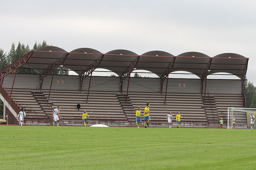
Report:
M 166 105 L 164 105 L 165 95 L 152 92 L 129 92 L 129 99 L 135 110 L 138 106 L 141 107 L 141 112 L 144 113 L 146 103 L 150 103 L 150 118 L 161 122 L 166 122 L 166 115 L 172 112 L 174 124 L 176 124 L 177 112 L 180 112 L 183 122 L 207 122 L 205 109 L 202 108 L 203 99 L 201 94 L 184 94 L 184 93 L 167 93 Z M 142 114 L 143 114 L 142 113 Z

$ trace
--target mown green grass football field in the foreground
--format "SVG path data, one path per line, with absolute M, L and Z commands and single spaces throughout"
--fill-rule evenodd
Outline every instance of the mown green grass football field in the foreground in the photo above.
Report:
M 256 130 L 0 126 L 0 169 L 255 169 Z

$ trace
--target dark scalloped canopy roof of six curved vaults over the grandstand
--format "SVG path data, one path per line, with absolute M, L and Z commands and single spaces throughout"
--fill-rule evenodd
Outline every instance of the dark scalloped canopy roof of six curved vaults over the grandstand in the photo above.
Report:
M 147 70 L 159 77 L 163 77 L 166 72 L 187 71 L 199 78 L 202 78 L 204 73 L 209 75 L 220 72 L 243 78 L 249 59 L 234 53 L 210 57 L 200 52 L 185 52 L 174 56 L 164 51 L 149 51 L 138 55 L 129 50 L 119 49 L 103 54 L 92 48 L 78 48 L 67 52 L 59 47 L 45 46 L 34 50 L 24 66 L 41 74 L 63 58 L 63 67 L 75 71 L 78 75 L 92 68 L 104 68 L 122 76 L 126 72 L 131 72 L 129 68 L 133 69 L 136 66 L 137 70 Z M 97 62 L 98 65 L 95 65 Z

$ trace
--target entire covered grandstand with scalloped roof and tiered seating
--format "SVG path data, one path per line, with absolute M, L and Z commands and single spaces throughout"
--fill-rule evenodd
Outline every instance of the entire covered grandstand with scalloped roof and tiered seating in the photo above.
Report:
M 227 127 L 228 107 L 245 106 L 245 75 L 249 58 L 224 53 L 214 57 L 200 52 L 174 56 L 164 51 L 138 55 L 129 50 L 103 54 L 91 48 L 67 52 L 44 46 L 33 50 L 0 72 L 0 98 L 4 117 L 18 124 L 18 112 L 26 111 L 25 125 L 52 125 L 52 111 L 61 107 L 61 124 L 82 126 L 82 113 L 89 115 L 87 125 L 136 126 L 138 106 L 144 112 L 150 103 L 150 126 L 168 127 L 166 115 L 177 112 L 184 118 L 182 127 L 218 128 L 220 118 Z M 26 66 L 38 74 L 18 74 Z M 54 75 L 65 67 L 77 75 Z M 92 76 L 95 69 L 107 69 L 118 76 Z M 131 77 L 146 70 L 158 77 Z M 198 78 L 169 78 L 186 71 Z M 228 73 L 222 79 L 209 75 Z M 236 79 L 226 78 L 228 75 Z M 76 105 L 80 103 L 80 111 Z M 142 116 L 143 118 L 143 116 Z M 174 120 L 174 127 L 177 122 Z

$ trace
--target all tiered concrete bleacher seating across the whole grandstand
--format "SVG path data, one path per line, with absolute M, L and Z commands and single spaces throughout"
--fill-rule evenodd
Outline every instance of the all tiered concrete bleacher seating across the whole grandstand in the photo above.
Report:
M 7 88 L 10 92 L 11 89 Z M 174 126 L 176 126 L 176 115 L 180 112 L 183 127 L 190 127 L 191 123 L 196 124 L 194 127 L 200 127 L 202 124 L 206 126 L 207 113 L 203 107 L 203 96 L 197 93 L 167 93 L 166 105 L 164 105 L 165 94 L 158 92 L 128 92 L 127 104 L 124 104 L 125 99 L 123 94 L 113 91 L 90 91 L 88 103 L 86 103 L 87 91 L 80 92 L 79 90 L 51 90 L 49 103 L 49 90 L 43 89 L 42 92 L 36 92 L 35 89 L 14 88 L 12 92 L 13 98 L 24 108 L 27 113 L 27 118 L 40 116 L 40 122 L 44 124 L 45 120 L 51 121 L 52 110 L 59 105 L 60 115 L 63 118 L 65 125 L 82 124 L 82 113 L 84 110 L 89 115 L 90 119 L 98 122 L 113 122 L 119 124 L 121 120 L 123 126 L 135 125 L 135 112 L 137 107 L 141 107 L 143 114 L 146 103 L 150 103 L 150 117 L 152 123 L 157 126 L 166 125 L 166 115 L 172 112 L 174 116 Z M 227 120 L 228 107 L 243 107 L 243 97 L 241 94 L 210 94 L 213 98 L 212 105 L 216 105 L 218 119 L 224 118 Z M 80 103 L 80 111 L 76 108 L 77 103 Z M 131 110 L 133 110 L 131 112 Z M 141 116 L 143 117 L 143 116 Z M 41 120 L 42 119 L 42 120 Z M 70 120 L 73 120 L 73 123 Z

